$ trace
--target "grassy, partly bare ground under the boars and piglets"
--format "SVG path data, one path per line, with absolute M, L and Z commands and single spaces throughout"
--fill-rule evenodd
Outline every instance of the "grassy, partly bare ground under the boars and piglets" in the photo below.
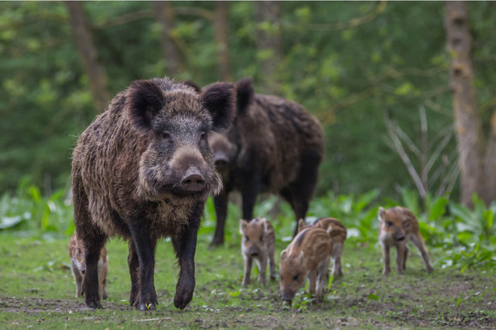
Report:
M 103 302 L 103 310 L 88 310 L 81 298 L 74 297 L 69 238 L 0 236 L 0 329 L 496 328 L 496 269 L 459 274 L 434 263 L 435 272 L 427 274 L 422 259 L 411 253 L 405 275 L 393 272 L 384 277 L 379 247 L 348 240 L 345 276 L 333 281 L 326 301 L 315 305 L 300 290 L 293 307 L 283 307 L 278 283 L 241 288 L 239 245 L 209 250 L 208 240 L 207 235 L 199 236 L 196 290 L 187 309 L 179 311 L 172 304 L 177 264 L 170 242 L 161 242 L 155 267 L 160 305 L 156 312 L 137 312 L 127 302 L 130 280 L 122 240 L 107 245 L 110 298 Z M 278 243 L 277 251 L 284 247 Z M 442 250 L 430 253 L 434 261 L 443 255 Z

